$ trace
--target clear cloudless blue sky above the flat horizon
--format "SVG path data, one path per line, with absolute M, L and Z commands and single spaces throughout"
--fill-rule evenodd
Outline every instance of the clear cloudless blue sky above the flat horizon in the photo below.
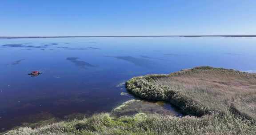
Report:
M 256 34 L 256 0 L 0 0 L 0 36 Z

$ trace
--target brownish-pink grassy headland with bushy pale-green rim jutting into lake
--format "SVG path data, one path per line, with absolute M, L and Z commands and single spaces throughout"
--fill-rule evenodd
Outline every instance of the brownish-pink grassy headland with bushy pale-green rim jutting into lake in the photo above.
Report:
M 238 113 L 240 109 L 234 106 L 235 102 L 229 100 L 236 100 L 234 98 L 238 98 L 239 94 L 242 95 L 239 98 L 253 95 L 251 102 L 256 105 L 254 98 L 256 95 L 256 74 L 232 69 L 195 67 L 169 75 L 139 76 L 128 80 L 126 88 L 140 98 L 167 101 L 178 107 L 184 114 L 198 117 L 207 114 L 227 113 L 230 110 L 236 110 Z M 201 95 L 204 97 L 201 98 Z M 219 97 L 220 99 L 218 99 Z M 208 100 L 218 104 L 204 103 L 209 102 Z M 221 106 L 218 106 L 219 103 Z M 256 113 L 255 108 L 251 113 Z M 250 118 L 255 119 L 255 115 Z

